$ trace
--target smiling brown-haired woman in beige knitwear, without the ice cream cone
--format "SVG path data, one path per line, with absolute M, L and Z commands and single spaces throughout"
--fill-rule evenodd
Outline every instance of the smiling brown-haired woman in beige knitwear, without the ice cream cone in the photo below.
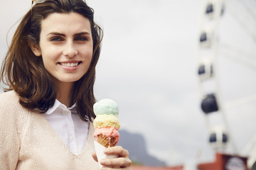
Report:
M 0 169 L 99 169 L 92 106 L 101 40 L 82 0 L 40 1 L 26 13 L 1 67 L 9 89 L 0 94 Z M 118 157 L 102 165 L 130 169 L 127 150 L 105 153 Z

